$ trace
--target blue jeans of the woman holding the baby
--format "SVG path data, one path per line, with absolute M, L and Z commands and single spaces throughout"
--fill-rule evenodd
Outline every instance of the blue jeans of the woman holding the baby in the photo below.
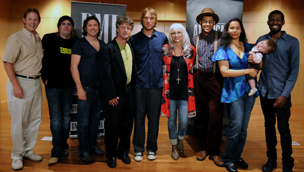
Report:
M 238 100 L 228 103 L 230 125 L 226 139 L 226 154 L 222 157 L 225 165 L 241 160 L 241 154 L 247 137 L 247 127 L 250 114 L 255 102 L 254 96 L 244 93 Z

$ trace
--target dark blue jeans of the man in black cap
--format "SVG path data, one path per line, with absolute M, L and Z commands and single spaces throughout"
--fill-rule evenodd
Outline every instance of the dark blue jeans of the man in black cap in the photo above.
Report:
M 63 150 L 68 149 L 66 141 L 70 131 L 73 88 L 73 86 L 65 89 L 48 89 L 46 87 L 51 121 L 50 128 L 53 137 L 51 157 L 63 157 Z

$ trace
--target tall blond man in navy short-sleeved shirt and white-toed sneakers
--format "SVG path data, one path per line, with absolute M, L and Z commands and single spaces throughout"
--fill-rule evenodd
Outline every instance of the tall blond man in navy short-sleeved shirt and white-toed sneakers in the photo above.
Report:
M 162 47 L 168 44 L 165 33 L 154 29 L 157 24 L 157 13 L 154 9 L 145 8 L 141 13 L 140 23 L 141 31 L 129 39 L 134 49 L 137 68 L 133 134 L 134 160 L 136 161 L 141 161 L 143 156 L 146 114 L 148 118 L 147 158 L 156 159 L 163 91 Z

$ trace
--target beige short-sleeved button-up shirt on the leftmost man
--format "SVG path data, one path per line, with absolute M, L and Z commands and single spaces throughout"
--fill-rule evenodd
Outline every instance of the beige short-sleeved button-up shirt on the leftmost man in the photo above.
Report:
M 2 61 L 13 64 L 16 74 L 41 75 L 43 50 L 37 32 L 35 37 L 25 28 L 8 37 Z

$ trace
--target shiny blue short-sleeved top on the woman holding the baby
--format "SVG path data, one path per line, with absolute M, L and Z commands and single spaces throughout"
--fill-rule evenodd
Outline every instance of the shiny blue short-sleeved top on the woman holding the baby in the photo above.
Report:
M 219 60 L 228 60 L 230 69 L 246 69 L 248 64 L 248 52 L 252 49 L 253 46 L 247 44 L 246 42 L 243 42 L 243 44 L 245 48 L 245 53 L 242 59 L 229 46 L 227 46 L 226 48 L 221 47 L 220 49 L 218 49 L 213 55 L 212 61 L 216 62 Z M 220 101 L 223 103 L 234 102 L 238 100 L 239 97 L 241 97 L 245 92 L 249 93 L 249 91 L 250 87 L 245 75 L 237 77 L 226 77 L 224 78 L 223 91 Z M 258 92 L 256 92 L 254 95 L 257 97 Z

